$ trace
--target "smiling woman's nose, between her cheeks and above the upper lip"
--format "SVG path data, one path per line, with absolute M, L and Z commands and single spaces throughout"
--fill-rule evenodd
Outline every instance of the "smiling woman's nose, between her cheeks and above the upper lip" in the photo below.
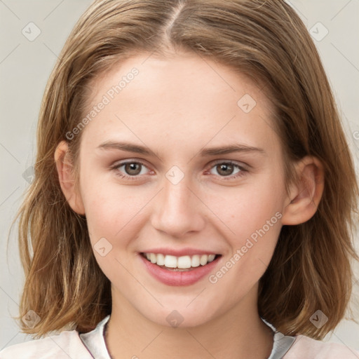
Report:
M 154 201 L 151 222 L 158 231 L 182 237 L 203 229 L 204 211 L 205 205 L 191 189 L 186 176 L 177 184 L 164 178 L 163 189 Z

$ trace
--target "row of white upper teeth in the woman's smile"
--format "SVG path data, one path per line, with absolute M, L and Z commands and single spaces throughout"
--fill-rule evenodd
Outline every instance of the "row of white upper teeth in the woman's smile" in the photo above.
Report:
M 183 257 L 175 257 L 174 255 L 162 255 L 161 253 L 144 253 L 151 263 L 156 263 L 158 266 L 167 266 L 168 268 L 186 269 L 191 266 L 204 266 L 208 262 L 215 259 L 215 255 L 184 255 Z

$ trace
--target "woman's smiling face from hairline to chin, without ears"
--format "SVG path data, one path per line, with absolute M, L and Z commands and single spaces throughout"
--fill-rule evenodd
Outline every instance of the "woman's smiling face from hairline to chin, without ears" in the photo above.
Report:
M 269 101 L 245 76 L 189 54 L 132 57 L 93 88 L 78 196 L 113 301 L 167 326 L 173 310 L 194 326 L 243 302 L 271 260 L 287 201 Z M 220 256 L 188 276 L 140 255 L 171 250 Z

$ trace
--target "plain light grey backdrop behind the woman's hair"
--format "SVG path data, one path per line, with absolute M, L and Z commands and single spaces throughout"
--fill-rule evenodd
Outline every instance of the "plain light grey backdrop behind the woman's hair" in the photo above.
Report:
M 19 332 L 11 318 L 18 315 L 24 281 L 16 226 L 11 233 L 8 252 L 6 241 L 11 220 L 31 179 L 31 172 L 26 178 L 23 173 L 34 163 L 36 123 L 46 81 L 69 32 L 90 2 L 0 0 L 0 350 L 31 339 Z M 355 167 L 358 168 L 359 0 L 287 2 L 292 4 L 317 39 L 323 37 L 325 29 L 328 31 L 323 39 L 315 42 L 341 111 Z M 22 34 L 22 29 L 33 26 L 28 26 L 29 22 L 34 22 L 41 31 L 34 41 L 29 41 Z M 35 34 L 34 27 L 31 34 Z M 356 245 L 358 248 L 358 240 Z M 355 270 L 359 278 L 358 268 Z M 358 298 L 358 287 L 357 280 L 353 297 Z M 353 308 L 355 318 L 359 320 L 358 304 Z M 343 320 L 336 330 L 325 337 L 325 341 L 344 343 L 358 349 L 359 325 Z

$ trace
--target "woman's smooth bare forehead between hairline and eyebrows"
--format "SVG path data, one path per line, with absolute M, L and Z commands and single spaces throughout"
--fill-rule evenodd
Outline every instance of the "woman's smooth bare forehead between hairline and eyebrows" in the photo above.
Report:
M 91 143 L 116 133 L 184 145 L 223 139 L 270 143 L 276 136 L 273 107 L 261 89 L 247 76 L 195 54 L 135 55 L 90 86 L 88 113 L 106 102 L 86 126 Z

